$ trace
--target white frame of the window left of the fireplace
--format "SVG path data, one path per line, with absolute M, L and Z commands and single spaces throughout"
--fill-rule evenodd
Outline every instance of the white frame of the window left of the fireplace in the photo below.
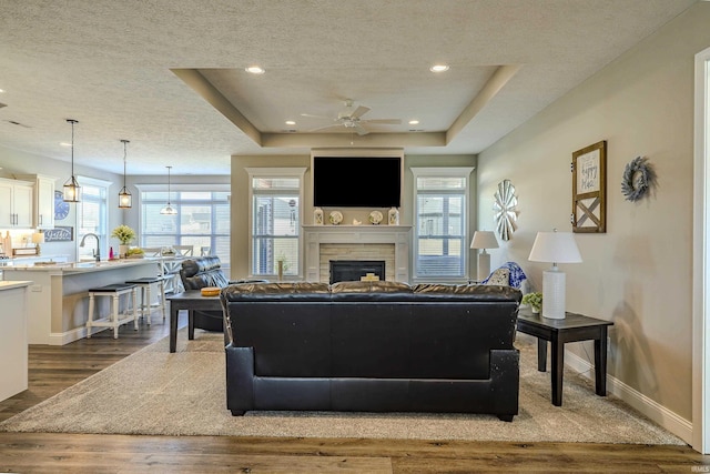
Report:
M 275 274 L 254 274 L 254 179 L 277 179 L 290 178 L 298 180 L 298 229 L 296 249 L 298 252 L 298 268 L 295 275 L 284 275 L 284 280 L 302 280 L 304 269 L 304 245 L 303 245 L 303 209 L 304 209 L 304 180 L 307 168 L 304 167 L 283 167 L 283 168 L 245 168 L 248 175 L 248 276 L 264 278 L 276 276 Z M 258 193 L 256 193 L 258 195 Z

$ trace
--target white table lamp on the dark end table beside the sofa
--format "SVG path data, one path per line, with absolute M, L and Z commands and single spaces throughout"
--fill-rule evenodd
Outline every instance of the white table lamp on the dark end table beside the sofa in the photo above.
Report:
M 565 272 L 558 263 L 579 263 L 581 255 L 571 232 L 538 232 L 528 260 L 551 262 L 552 268 L 542 273 L 542 316 L 565 319 Z

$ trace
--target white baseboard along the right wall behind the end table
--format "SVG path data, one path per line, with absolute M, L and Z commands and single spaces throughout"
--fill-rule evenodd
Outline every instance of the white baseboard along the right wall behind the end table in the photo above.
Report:
M 565 351 L 565 365 L 594 383 L 595 366 L 589 361 Z M 618 379 L 607 375 L 607 392 L 618 396 L 633 409 L 658 423 L 688 444 L 692 444 L 692 422 L 671 412 L 658 402 L 630 387 Z M 564 395 L 562 395 L 564 396 Z

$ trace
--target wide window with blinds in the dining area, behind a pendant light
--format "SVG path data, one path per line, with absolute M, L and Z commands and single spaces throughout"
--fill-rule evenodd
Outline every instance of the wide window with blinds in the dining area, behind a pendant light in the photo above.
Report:
M 192 246 L 193 255 L 217 255 L 230 266 L 229 184 L 171 186 L 170 204 L 178 213 L 161 214 L 168 191 L 141 185 L 141 246 Z M 155 188 L 155 189 L 153 189 Z M 161 186 L 162 188 L 162 186 Z

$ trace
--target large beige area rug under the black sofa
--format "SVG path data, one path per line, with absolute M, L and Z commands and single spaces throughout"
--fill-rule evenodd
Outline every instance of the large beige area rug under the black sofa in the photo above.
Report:
M 201 331 L 187 341 L 182 330 L 176 353 L 169 353 L 165 337 L 0 423 L 0 431 L 686 444 L 618 399 L 595 395 L 589 381 L 569 371 L 564 405 L 552 406 L 550 375 L 536 370 L 531 340 L 518 341 L 520 409 L 513 423 L 491 415 L 422 413 L 232 416 L 221 343 L 221 335 Z

